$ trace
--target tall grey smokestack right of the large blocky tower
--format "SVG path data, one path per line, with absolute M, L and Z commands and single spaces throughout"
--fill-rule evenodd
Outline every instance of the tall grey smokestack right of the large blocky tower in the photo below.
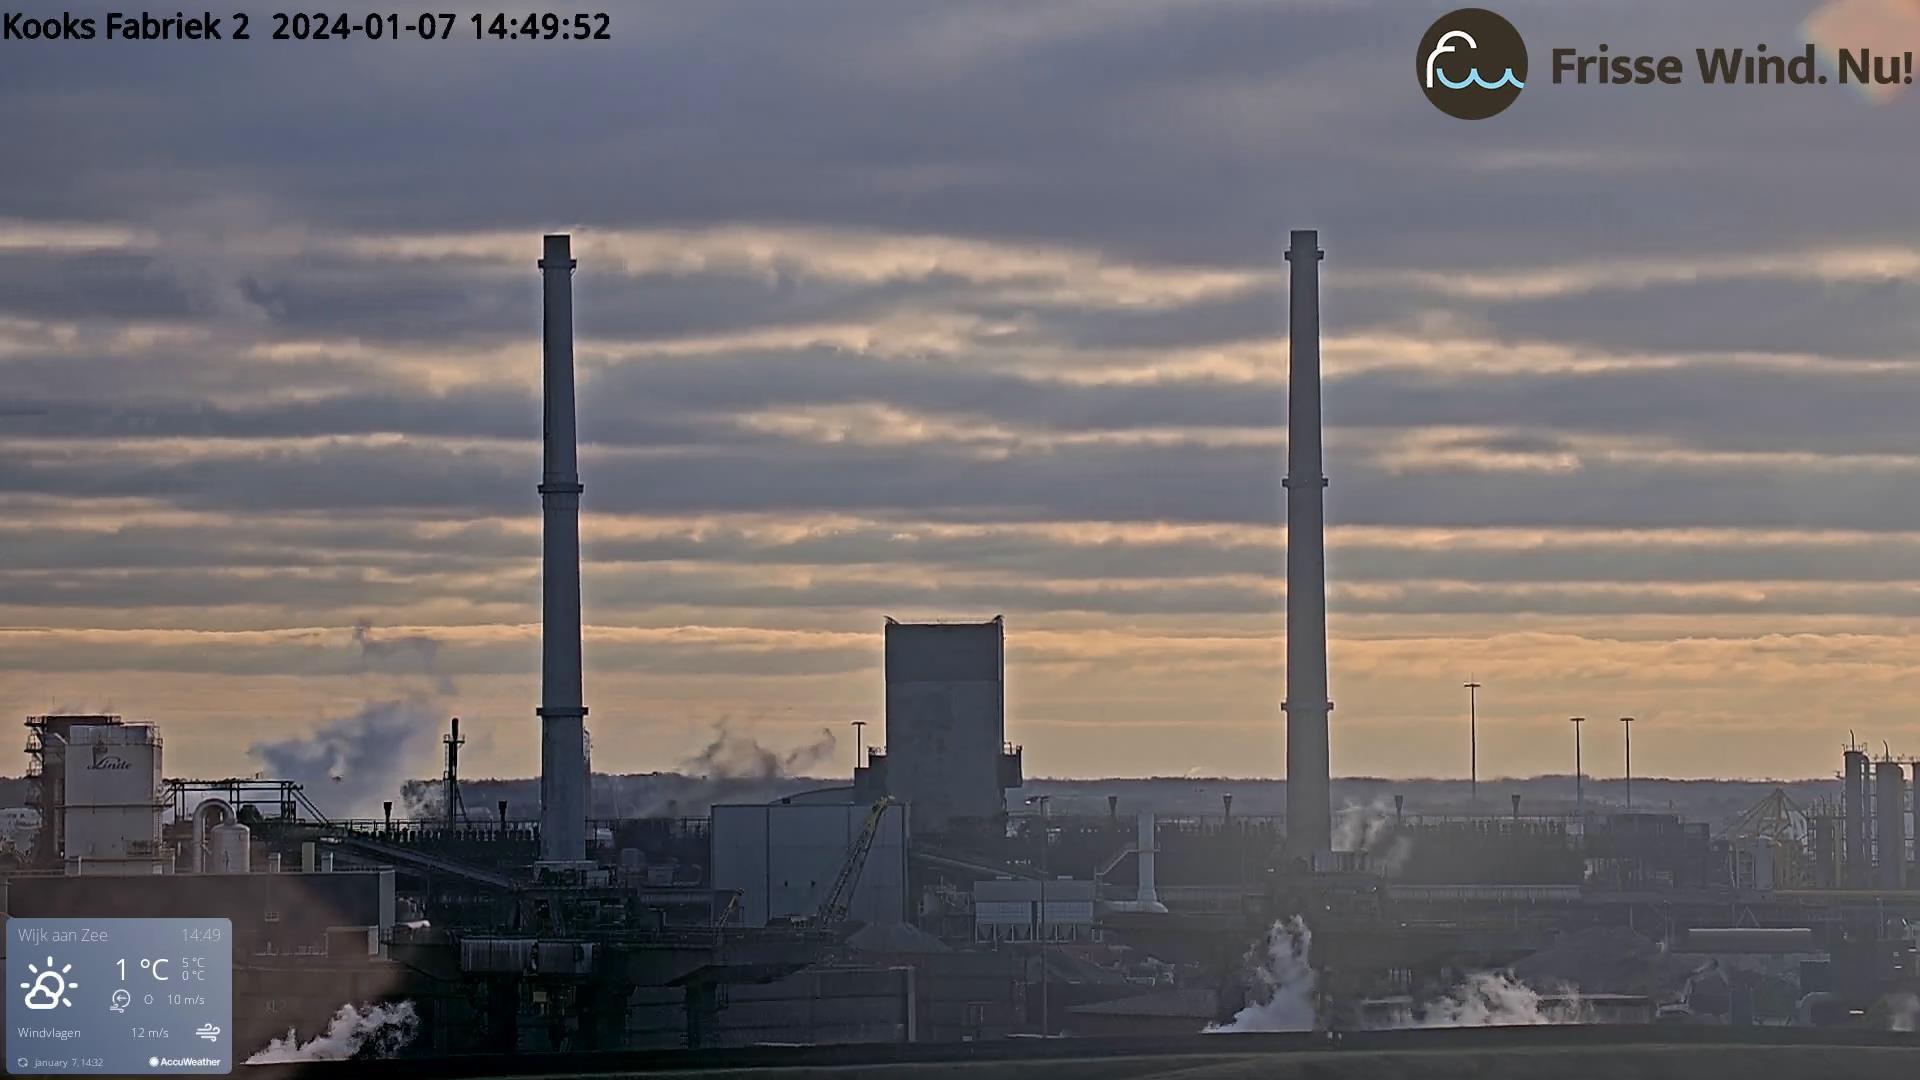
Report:
M 1294 229 L 1286 319 L 1286 849 L 1332 849 L 1327 759 L 1327 538 L 1319 409 L 1319 233 Z

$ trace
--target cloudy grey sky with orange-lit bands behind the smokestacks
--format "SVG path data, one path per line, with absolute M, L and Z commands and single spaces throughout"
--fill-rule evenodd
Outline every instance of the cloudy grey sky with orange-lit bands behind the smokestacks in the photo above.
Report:
M 1574 713 L 1642 773 L 1920 751 L 1920 98 L 1548 81 L 1795 52 L 1809 0 L 1505 4 L 1488 121 L 1417 86 L 1448 4 L 611 10 L 0 42 L 0 717 L 230 774 L 409 701 L 534 773 L 564 229 L 597 769 L 851 765 L 883 615 L 1004 613 L 1031 774 L 1281 774 L 1313 227 L 1336 773 L 1465 774 L 1469 675 L 1482 774 L 1569 771 Z

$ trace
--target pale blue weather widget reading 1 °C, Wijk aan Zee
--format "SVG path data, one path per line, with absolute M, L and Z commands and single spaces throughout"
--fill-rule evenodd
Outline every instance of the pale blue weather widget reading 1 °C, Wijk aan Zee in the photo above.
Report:
M 13 1074 L 230 1072 L 227 919 L 10 919 Z

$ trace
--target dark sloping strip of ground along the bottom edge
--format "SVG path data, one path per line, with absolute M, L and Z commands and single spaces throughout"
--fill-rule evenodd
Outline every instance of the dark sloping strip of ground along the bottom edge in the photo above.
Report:
M 1920 1038 L 1807 1028 L 1467 1028 L 1179 1040 L 1010 1040 L 910 1047 L 532 1055 L 248 1067 L 280 1080 L 672 1076 L 699 1080 L 1912 1080 Z

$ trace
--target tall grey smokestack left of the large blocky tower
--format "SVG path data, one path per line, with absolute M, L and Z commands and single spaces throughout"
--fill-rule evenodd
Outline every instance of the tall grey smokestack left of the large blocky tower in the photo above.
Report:
M 588 853 L 586 715 L 580 692 L 580 459 L 574 448 L 572 238 L 547 236 L 540 259 L 545 323 L 545 465 L 540 475 L 540 859 Z

